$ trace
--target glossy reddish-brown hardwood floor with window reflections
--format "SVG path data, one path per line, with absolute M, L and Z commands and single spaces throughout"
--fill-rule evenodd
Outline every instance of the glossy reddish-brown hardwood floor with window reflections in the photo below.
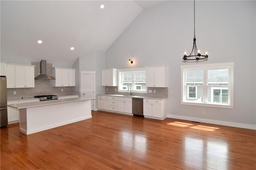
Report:
M 103 111 L 25 135 L 1 128 L 1 170 L 255 170 L 256 130 Z

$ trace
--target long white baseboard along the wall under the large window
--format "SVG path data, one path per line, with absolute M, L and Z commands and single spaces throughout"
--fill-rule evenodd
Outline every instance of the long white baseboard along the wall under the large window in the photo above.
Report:
M 186 120 L 186 121 L 195 121 L 195 122 L 210 123 L 210 124 L 215 124 L 215 125 L 224 125 L 224 126 L 228 126 L 228 127 L 248 128 L 248 129 L 256 130 L 256 125 L 217 121 L 217 120 L 212 120 L 212 119 L 202 119 L 202 118 L 197 118 L 197 117 L 187 117 L 187 116 L 179 116 L 179 115 L 167 115 L 167 117 L 174 118 L 174 119 L 182 119 L 182 120 Z

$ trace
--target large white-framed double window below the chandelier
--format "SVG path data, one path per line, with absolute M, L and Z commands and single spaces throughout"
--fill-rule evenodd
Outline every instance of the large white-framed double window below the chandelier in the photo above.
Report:
M 233 108 L 234 63 L 182 65 L 181 104 Z

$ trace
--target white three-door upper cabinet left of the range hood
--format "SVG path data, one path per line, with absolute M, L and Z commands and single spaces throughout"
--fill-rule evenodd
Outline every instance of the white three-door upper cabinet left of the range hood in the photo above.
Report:
M 6 65 L 7 88 L 35 87 L 34 65 Z

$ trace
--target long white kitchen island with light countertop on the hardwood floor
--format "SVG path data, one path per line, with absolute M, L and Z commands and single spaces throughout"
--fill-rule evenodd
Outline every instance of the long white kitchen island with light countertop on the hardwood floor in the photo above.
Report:
M 24 134 L 32 134 L 92 118 L 90 99 L 58 99 L 8 106 L 19 110 L 20 132 Z

